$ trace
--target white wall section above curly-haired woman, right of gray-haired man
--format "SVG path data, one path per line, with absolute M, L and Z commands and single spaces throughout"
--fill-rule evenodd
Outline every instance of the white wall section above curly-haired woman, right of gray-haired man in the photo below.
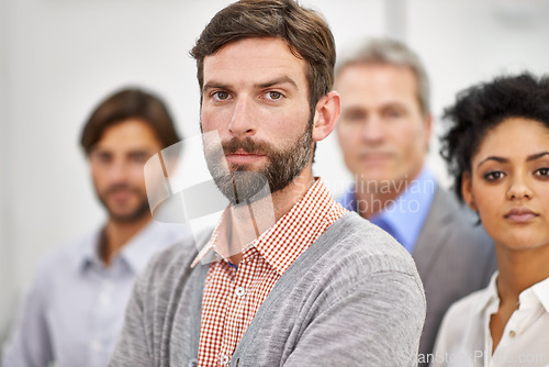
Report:
M 437 133 L 445 107 L 456 92 L 501 74 L 549 73 L 549 1 L 410 0 L 407 42 L 430 75 Z M 430 162 L 448 184 L 432 144 Z

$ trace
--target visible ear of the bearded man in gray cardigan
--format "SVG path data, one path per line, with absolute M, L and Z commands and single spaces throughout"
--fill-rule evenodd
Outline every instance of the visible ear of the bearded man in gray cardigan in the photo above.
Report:
M 316 103 L 314 111 L 313 141 L 318 142 L 328 136 L 336 126 L 341 114 L 341 100 L 339 93 L 330 91 L 323 96 Z

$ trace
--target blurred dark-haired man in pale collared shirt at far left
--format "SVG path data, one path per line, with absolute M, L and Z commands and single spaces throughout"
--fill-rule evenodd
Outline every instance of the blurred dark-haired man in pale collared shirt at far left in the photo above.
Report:
M 139 89 L 103 100 L 83 126 L 104 225 L 41 265 L 4 349 L 3 367 L 108 365 L 136 275 L 184 236 L 152 220 L 144 164 L 180 137 L 163 101 Z

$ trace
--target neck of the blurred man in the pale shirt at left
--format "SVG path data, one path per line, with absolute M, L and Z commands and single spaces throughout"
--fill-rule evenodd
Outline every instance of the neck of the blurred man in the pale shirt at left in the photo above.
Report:
M 103 229 L 103 243 L 100 246 L 99 255 L 105 265 L 110 265 L 114 255 L 116 255 L 122 247 L 144 229 L 152 220 L 149 214 L 132 222 L 121 222 L 109 219 Z

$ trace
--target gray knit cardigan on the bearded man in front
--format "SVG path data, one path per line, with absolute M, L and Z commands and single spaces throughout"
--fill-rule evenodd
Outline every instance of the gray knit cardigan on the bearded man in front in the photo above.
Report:
M 190 268 L 197 253 L 178 244 L 138 278 L 111 367 L 195 366 L 209 268 Z M 415 366 L 425 307 L 410 254 L 347 213 L 274 285 L 231 366 Z

